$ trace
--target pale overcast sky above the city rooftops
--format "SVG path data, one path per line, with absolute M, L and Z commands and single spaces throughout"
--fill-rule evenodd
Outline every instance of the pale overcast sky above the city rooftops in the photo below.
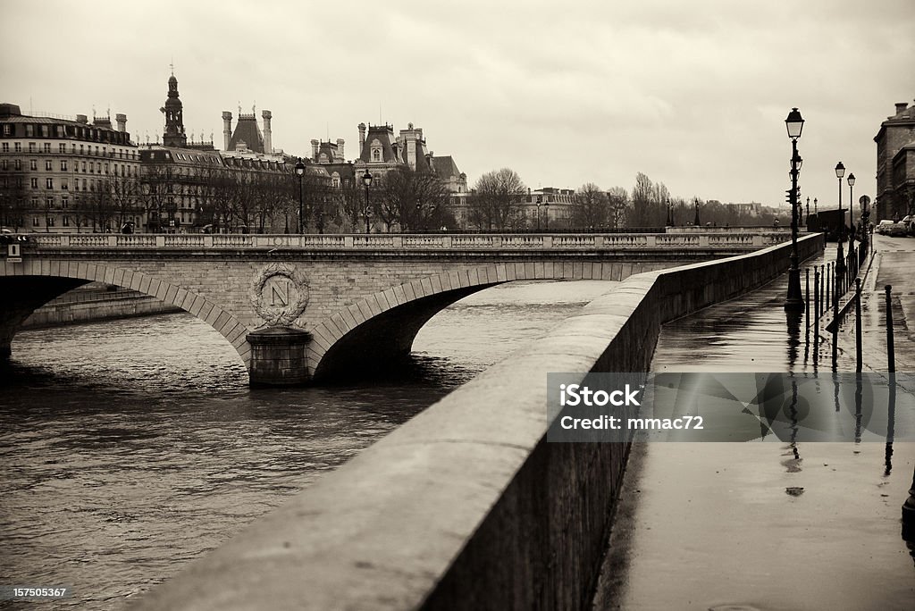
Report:
M 0 102 L 23 113 L 125 113 L 161 137 L 170 65 L 187 133 L 222 111 L 273 113 L 273 144 L 310 155 L 359 123 L 422 127 L 472 187 L 510 167 L 530 188 L 779 206 L 792 107 L 806 120 L 802 200 L 876 190 L 880 123 L 915 103 L 915 0 L 274 0 L 4 5 Z M 848 187 L 843 182 L 843 203 Z

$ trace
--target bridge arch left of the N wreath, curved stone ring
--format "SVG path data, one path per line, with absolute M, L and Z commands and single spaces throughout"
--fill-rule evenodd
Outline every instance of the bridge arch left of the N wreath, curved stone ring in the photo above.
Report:
M 251 347 L 248 328 L 229 312 L 209 299 L 148 274 L 114 265 L 66 261 L 27 262 L 10 273 L 10 266 L 0 266 L 0 290 L 11 295 L 0 309 L 0 356 L 8 357 L 19 325 L 38 307 L 72 288 L 90 282 L 115 284 L 150 295 L 176 306 L 216 329 L 250 368 Z

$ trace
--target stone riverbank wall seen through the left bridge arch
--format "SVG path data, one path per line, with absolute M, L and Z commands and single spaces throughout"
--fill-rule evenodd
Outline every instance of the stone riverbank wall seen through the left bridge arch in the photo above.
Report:
M 180 311 L 180 308 L 167 305 L 150 295 L 120 286 L 90 283 L 68 291 L 39 307 L 20 328 L 63 327 Z

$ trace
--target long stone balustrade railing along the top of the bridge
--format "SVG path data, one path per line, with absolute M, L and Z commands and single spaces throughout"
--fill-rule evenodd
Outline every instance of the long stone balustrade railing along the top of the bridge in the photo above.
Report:
M 317 251 L 750 251 L 790 239 L 765 230 L 710 233 L 558 234 L 242 234 L 242 233 L 48 233 L 29 234 L 39 249 L 242 249 Z

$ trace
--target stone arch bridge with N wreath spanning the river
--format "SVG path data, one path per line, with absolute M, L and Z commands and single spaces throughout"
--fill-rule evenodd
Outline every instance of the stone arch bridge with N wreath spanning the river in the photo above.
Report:
M 516 280 L 623 280 L 759 250 L 785 231 L 607 234 L 29 234 L 0 269 L 0 352 L 38 306 L 98 281 L 199 317 L 253 383 L 376 369 L 458 299 Z

